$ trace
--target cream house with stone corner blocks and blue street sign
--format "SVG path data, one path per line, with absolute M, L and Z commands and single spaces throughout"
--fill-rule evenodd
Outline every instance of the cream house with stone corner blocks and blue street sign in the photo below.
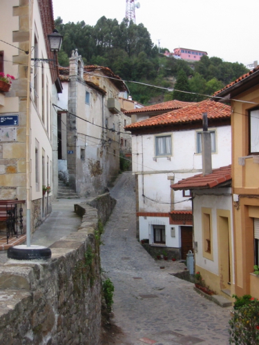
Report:
M 26 200 L 23 217 L 30 217 L 32 231 L 51 211 L 52 102 L 61 92 L 48 43 L 53 29 L 52 0 L 1 4 L 0 72 L 15 80 L 0 92 L 0 199 Z M 43 195 L 47 185 L 50 193 Z

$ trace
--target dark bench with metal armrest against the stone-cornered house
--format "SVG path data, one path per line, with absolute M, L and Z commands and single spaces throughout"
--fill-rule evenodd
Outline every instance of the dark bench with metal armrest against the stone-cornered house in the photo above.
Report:
M 23 233 L 23 208 L 25 200 L 0 200 L 0 221 L 6 222 L 6 239 Z M 19 223 L 19 225 L 18 225 Z

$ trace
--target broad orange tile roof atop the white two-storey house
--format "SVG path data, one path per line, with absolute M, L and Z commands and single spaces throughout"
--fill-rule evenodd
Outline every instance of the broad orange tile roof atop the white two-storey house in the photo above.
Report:
M 202 101 L 191 106 L 166 112 L 149 119 L 135 122 L 125 127 L 126 130 L 136 130 L 155 126 L 167 126 L 169 124 L 185 124 L 194 121 L 202 121 L 202 113 L 207 112 L 208 119 L 230 119 L 231 107 L 215 101 Z

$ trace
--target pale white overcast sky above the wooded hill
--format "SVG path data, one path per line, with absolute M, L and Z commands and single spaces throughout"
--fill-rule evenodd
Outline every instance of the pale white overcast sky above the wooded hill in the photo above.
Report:
M 258 60 L 258 0 L 137 0 L 136 23 L 143 23 L 154 44 L 204 50 L 209 57 L 246 65 Z M 136 1 L 136 2 L 137 2 Z M 125 16 L 126 0 L 52 0 L 54 17 L 94 26 L 105 16 Z M 76 47 L 75 47 L 76 48 Z

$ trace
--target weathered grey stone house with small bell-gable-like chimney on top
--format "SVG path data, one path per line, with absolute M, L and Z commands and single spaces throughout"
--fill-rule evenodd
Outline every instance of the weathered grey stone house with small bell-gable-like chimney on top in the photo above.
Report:
M 57 102 L 59 177 L 82 197 L 95 196 L 119 172 L 119 150 L 126 139 L 118 95 L 126 86 L 109 68 L 84 66 L 77 50 L 70 67 L 59 73 L 64 85 Z

